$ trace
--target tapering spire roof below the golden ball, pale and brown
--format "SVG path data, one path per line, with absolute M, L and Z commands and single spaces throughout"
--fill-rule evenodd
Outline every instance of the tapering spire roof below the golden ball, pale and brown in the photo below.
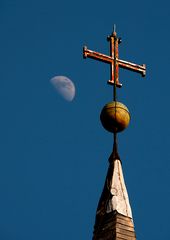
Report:
M 117 156 L 114 144 L 96 212 L 93 240 L 136 240 L 122 164 Z

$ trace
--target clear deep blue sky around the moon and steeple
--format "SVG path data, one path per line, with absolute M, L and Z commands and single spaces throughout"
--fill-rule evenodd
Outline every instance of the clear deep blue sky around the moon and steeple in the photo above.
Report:
M 0 239 L 88 240 L 112 151 L 100 123 L 112 100 L 109 66 L 82 47 L 109 53 L 113 24 L 120 58 L 147 75 L 120 71 L 118 100 L 131 123 L 119 154 L 138 240 L 170 239 L 170 3 L 0 1 Z M 67 102 L 50 79 L 69 77 Z

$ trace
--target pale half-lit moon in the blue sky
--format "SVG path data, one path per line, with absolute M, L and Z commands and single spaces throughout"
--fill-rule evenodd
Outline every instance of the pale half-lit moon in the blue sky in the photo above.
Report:
M 71 102 L 75 97 L 74 83 L 66 76 L 55 76 L 50 79 L 56 91 L 67 101 Z

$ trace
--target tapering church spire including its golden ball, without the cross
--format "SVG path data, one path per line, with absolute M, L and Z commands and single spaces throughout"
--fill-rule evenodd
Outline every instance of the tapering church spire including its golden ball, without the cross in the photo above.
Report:
M 122 116 L 123 120 L 121 120 Z M 122 103 L 112 102 L 103 108 L 100 118 L 102 125 L 114 132 L 114 145 L 96 212 L 93 240 L 136 240 L 131 206 L 117 146 L 117 132 L 122 131 L 128 125 L 129 111 Z

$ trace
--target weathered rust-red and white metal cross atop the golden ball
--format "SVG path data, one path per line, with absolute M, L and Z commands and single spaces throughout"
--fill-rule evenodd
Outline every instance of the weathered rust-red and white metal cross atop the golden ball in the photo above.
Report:
M 83 57 L 93 58 L 110 64 L 110 80 L 108 80 L 109 84 L 116 85 L 116 87 L 122 87 L 122 84 L 119 82 L 119 67 L 138 72 L 142 75 L 142 77 L 146 75 L 145 64 L 138 65 L 119 59 L 118 44 L 121 43 L 121 38 L 117 37 L 115 26 L 112 34 L 107 37 L 107 40 L 110 42 L 110 56 L 89 50 L 86 46 L 84 46 Z

